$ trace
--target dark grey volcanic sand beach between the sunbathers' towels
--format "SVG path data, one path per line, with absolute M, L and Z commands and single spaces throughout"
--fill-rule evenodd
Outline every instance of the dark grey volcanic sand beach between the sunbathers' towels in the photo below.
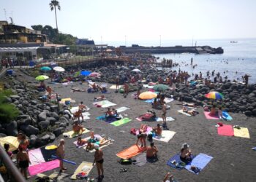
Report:
M 33 78 L 25 75 L 18 76 L 18 79 L 34 82 Z M 132 122 L 115 127 L 112 124 L 95 119 L 107 110 L 107 108 L 97 108 L 92 104 L 94 97 L 99 96 L 99 93 L 72 92 L 71 90 L 71 87 L 86 89 L 88 87 L 87 85 L 79 83 L 49 85 L 53 88 L 53 93 L 57 92 L 61 95 L 61 98 L 72 98 L 76 100 L 73 106 L 78 106 L 78 103 L 83 101 L 86 106 L 91 108 L 89 110 L 91 119 L 83 122 L 83 125 L 92 128 L 91 130 L 95 134 L 105 134 L 115 140 L 112 145 L 102 149 L 105 159 L 105 178 L 103 181 L 162 181 L 168 171 L 178 181 L 255 181 L 256 179 L 256 152 L 252 150 L 252 147 L 256 143 L 256 122 L 254 117 L 246 117 L 244 114 L 231 114 L 233 117 L 231 122 L 222 121 L 224 124 L 238 124 L 241 127 L 248 127 L 250 138 L 221 136 L 217 134 L 217 127 L 215 127 L 215 124 L 219 121 L 206 119 L 203 114 L 203 108 L 198 109 L 200 114 L 197 116 L 185 116 L 177 112 L 177 110 L 181 109 L 181 106 L 176 105 L 178 102 L 175 100 L 167 103 L 170 106 L 170 110 L 167 110 L 167 116 L 172 116 L 176 119 L 173 122 L 167 122 L 167 127 L 171 131 L 175 131 L 176 135 L 168 143 L 154 141 L 159 149 L 159 160 L 155 163 L 147 163 L 143 167 L 138 167 L 137 165 L 121 165 L 117 162 L 119 158 L 116 157 L 116 154 L 132 146 L 137 140 L 135 135 L 129 133 L 130 129 L 132 127 L 139 128 L 142 123 L 152 127 L 157 125 L 157 122 L 138 122 L 135 119 L 140 114 L 151 109 L 151 104 L 145 103 L 143 100 L 133 99 L 132 93 L 129 93 L 127 98 L 124 98 L 120 93 L 116 94 L 114 90 L 109 90 L 111 93 L 105 95 L 107 100 L 116 103 L 115 108 L 121 106 L 130 107 L 129 110 L 121 114 L 123 116 L 127 114 L 132 119 Z M 108 87 L 110 86 L 111 84 L 108 84 Z M 146 90 L 146 88 L 143 88 L 143 90 Z M 157 116 L 161 116 L 161 111 L 156 111 Z M 72 130 L 72 126 L 69 125 L 67 130 Z M 89 133 L 86 133 L 82 135 L 82 138 L 88 136 Z M 61 138 L 64 138 L 63 135 L 60 135 L 53 143 L 58 144 Z M 66 173 L 68 174 L 74 173 L 80 162 L 93 162 L 94 159 L 94 153 L 86 152 L 84 149 L 77 149 L 75 147 L 73 142 L 76 140 L 77 138 L 65 138 L 65 158 L 77 163 L 77 165 L 66 165 L 68 168 Z M 190 173 L 188 170 L 179 171 L 166 165 L 167 160 L 173 157 L 174 154 L 177 154 L 181 149 L 181 144 L 185 142 L 189 143 L 193 154 L 203 153 L 214 157 L 199 175 Z M 147 144 L 149 145 L 148 141 Z M 119 173 L 121 168 L 127 168 L 127 173 Z M 53 171 L 50 170 L 45 174 L 50 175 Z M 57 168 L 55 171 L 59 171 L 59 169 Z M 97 177 L 96 167 L 91 170 L 89 177 Z M 33 181 L 34 178 L 36 176 L 33 176 L 30 181 Z M 72 180 L 64 178 L 64 181 Z

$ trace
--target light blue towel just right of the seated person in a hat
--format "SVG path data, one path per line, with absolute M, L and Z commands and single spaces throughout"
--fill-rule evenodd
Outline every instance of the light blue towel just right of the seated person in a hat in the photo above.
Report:
M 208 156 L 206 154 L 198 154 L 194 159 L 192 159 L 192 162 L 189 165 L 186 165 L 186 169 L 189 170 L 192 173 L 195 173 L 194 171 L 191 170 L 192 166 L 198 167 L 199 171 L 195 174 L 199 174 L 201 170 L 203 170 L 206 165 L 213 159 L 214 157 Z

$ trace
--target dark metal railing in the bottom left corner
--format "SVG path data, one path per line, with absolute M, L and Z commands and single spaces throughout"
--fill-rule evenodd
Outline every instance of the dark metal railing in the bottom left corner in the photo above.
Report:
M 23 175 L 21 175 L 20 171 L 12 162 L 7 152 L 3 149 L 1 145 L 0 145 L 0 157 L 1 157 L 1 161 L 4 163 L 4 166 L 7 168 L 7 173 L 11 175 L 10 176 L 11 181 L 26 182 Z

